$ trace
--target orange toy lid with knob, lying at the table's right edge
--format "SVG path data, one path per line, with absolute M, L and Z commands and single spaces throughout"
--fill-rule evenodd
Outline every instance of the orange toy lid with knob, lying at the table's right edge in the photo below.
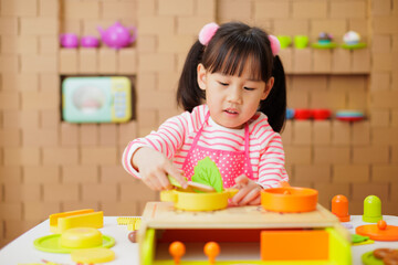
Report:
M 398 226 L 387 225 L 384 220 L 378 221 L 377 224 L 360 225 L 355 232 L 375 241 L 398 241 Z

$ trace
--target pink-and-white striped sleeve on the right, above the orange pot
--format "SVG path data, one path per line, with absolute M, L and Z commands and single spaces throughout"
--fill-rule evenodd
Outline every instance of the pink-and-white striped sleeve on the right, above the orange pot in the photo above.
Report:
M 284 165 L 282 138 L 279 134 L 273 132 L 264 148 L 264 152 L 260 156 L 259 183 L 264 189 L 268 189 L 280 187 L 281 181 L 289 181 Z

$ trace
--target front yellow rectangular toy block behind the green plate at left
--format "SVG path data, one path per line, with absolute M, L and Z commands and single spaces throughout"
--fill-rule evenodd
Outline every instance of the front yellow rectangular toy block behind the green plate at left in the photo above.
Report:
M 57 229 L 53 233 L 62 233 L 74 227 L 102 229 L 104 226 L 104 212 L 80 213 L 70 216 L 59 218 Z

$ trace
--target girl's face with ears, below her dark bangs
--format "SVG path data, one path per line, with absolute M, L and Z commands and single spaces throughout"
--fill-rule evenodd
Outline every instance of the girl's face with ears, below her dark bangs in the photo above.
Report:
M 269 95 L 273 77 L 265 84 L 262 80 L 253 80 L 249 72 L 249 63 L 241 76 L 210 73 L 202 64 L 198 65 L 198 84 L 206 91 L 206 103 L 211 118 L 223 127 L 241 129 L 253 117 L 260 100 Z

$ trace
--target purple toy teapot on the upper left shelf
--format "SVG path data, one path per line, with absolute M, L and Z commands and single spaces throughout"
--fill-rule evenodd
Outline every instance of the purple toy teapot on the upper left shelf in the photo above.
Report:
M 101 33 L 102 41 L 109 47 L 121 49 L 130 45 L 137 38 L 137 29 L 135 26 L 123 26 L 119 22 L 115 22 L 108 29 L 97 28 Z M 132 34 L 130 31 L 134 31 Z

